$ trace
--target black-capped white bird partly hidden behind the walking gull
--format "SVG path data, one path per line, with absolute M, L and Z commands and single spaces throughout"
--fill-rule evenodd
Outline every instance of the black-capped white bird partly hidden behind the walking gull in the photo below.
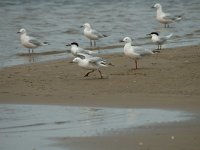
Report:
M 90 50 L 85 50 L 81 47 L 79 47 L 79 44 L 76 42 L 72 42 L 70 44 L 67 44 L 66 46 L 71 46 L 70 52 L 72 53 L 72 55 L 77 56 L 78 53 L 82 53 L 82 54 L 96 54 L 97 52 L 94 51 L 90 51 Z

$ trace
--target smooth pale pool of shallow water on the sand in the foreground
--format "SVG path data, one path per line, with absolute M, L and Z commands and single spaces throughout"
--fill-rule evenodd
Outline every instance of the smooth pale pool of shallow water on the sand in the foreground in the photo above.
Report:
M 59 150 L 52 138 L 88 137 L 159 123 L 183 122 L 193 114 L 161 109 L 47 105 L 0 105 L 0 149 Z

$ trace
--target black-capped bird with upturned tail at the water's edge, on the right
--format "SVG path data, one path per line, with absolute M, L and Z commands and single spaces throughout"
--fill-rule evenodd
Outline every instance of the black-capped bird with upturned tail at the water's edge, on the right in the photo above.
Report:
M 159 36 L 157 32 L 151 32 L 150 34 L 147 34 L 147 35 L 151 35 L 151 41 L 158 45 L 158 50 L 161 50 L 162 45 L 166 43 L 167 40 L 172 37 L 173 33 L 167 36 Z

